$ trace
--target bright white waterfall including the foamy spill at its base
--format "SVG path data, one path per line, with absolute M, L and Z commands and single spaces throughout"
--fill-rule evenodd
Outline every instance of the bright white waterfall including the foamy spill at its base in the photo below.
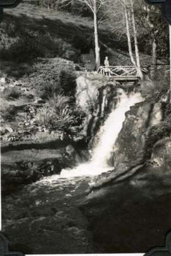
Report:
M 129 96 L 122 89 L 118 89 L 118 103 L 105 121 L 99 131 L 99 142 L 92 150 L 92 158 L 85 164 L 80 164 L 73 169 L 63 169 L 60 175 L 53 175 L 56 178 L 72 178 L 77 176 L 94 176 L 111 169 L 108 166 L 108 159 L 113 150 L 113 145 L 122 129 L 125 120 L 125 112 L 130 106 L 143 101 L 140 93 L 132 93 Z

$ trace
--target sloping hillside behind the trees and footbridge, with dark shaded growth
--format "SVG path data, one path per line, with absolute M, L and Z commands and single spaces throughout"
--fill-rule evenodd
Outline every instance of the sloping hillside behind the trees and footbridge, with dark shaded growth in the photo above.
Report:
M 28 61 L 36 57 L 61 57 L 81 61 L 81 54 L 94 48 L 93 22 L 90 17 L 47 10 L 29 3 L 5 10 L 0 29 L 1 59 Z M 105 55 L 111 64 L 131 65 L 127 41 L 99 26 L 101 63 Z M 161 63 L 161 62 L 160 62 Z M 141 53 L 141 64 L 151 64 L 151 57 Z

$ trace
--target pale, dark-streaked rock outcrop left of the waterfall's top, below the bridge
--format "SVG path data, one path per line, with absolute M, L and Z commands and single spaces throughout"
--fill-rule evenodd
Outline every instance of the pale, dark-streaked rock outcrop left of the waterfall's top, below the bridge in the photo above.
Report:
M 82 74 L 77 78 L 75 99 L 77 106 L 86 113 L 83 134 L 90 147 L 99 127 L 117 105 L 117 88 L 120 87 L 122 85 L 97 73 Z

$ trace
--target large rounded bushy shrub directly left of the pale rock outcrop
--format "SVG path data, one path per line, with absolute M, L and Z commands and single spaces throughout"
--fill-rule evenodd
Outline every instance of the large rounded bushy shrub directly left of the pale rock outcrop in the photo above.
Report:
M 27 78 L 39 96 L 47 99 L 54 94 L 74 96 L 76 86 L 75 66 L 68 60 L 55 58 L 41 60 Z

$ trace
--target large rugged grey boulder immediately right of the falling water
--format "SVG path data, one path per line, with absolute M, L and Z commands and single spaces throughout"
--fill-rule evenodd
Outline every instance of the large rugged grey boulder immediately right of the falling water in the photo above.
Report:
M 163 117 L 161 103 L 138 103 L 126 113 L 122 131 L 113 147 L 115 167 L 127 169 L 136 166 L 147 157 L 147 142 L 151 129 L 158 125 Z M 150 156 L 148 156 L 150 157 Z

